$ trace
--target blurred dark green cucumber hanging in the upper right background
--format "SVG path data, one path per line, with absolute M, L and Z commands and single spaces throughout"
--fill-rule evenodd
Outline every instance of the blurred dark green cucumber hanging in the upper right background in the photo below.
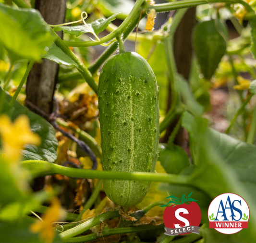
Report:
M 221 34 L 227 36 L 227 28 L 220 21 L 218 26 Z M 226 52 L 226 41 L 219 31 L 214 19 L 197 24 L 194 30 L 193 46 L 206 79 L 211 79 Z

